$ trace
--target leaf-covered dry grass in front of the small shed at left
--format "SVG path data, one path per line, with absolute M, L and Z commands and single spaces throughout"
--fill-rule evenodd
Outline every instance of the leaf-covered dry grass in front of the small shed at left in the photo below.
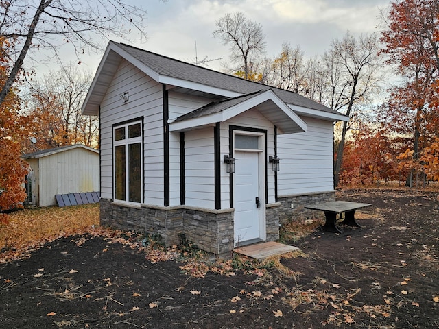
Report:
M 83 232 L 99 224 L 99 204 L 29 208 L 13 212 L 0 223 L 0 249 L 20 249 L 29 243 Z

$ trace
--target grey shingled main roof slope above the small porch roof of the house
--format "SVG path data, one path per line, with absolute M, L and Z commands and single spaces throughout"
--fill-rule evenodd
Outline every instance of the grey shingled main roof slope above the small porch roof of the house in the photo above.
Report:
M 222 88 L 224 90 L 230 90 L 241 94 L 250 94 L 259 90 L 272 89 L 274 93 L 276 93 L 276 95 L 285 103 L 340 115 L 339 112 L 336 112 L 327 106 L 323 106 L 316 101 L 311 101 L 311 99 L 307 99 L 306 97 L 291 91 L 244 80 L 240 77 L 235 77 L 233 75 L 220 73 L 210 69 L 205 69 L 204 67 L 181 62 L 180 60 L 151 53 L 150 51 L 145 51 L 143 49 L 125 45 L 123 43 L 114 43 L 131 56 L 139 60 L 139 62 L 150 67 L 150 69 L 159 75 L 175 77 L 177 79 L 187 80 L 188 82 L 197 82 L 199 84 L 205 84 L 206 86 Z

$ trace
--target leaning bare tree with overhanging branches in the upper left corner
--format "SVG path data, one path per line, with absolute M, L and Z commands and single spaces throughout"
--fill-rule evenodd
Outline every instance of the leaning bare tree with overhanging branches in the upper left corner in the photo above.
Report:
M 52 57 L 60 60 L 59 47 L 70 44 L 79 58 L 84 49 L 100 49 L 102 40 L 124 38 L 132 28 L 145 36 L 145 11 L 126 0 L 10 0 L 0 2 L 0 13 L 0 37 L 9 42 L 11 62 L 0 103 L 32 50 L 50 49 Z

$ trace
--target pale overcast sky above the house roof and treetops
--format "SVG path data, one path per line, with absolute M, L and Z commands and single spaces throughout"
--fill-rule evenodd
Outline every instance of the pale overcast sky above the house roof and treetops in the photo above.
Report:
M 84 0 L 86 1 L 86 0 Z M 147 10 L 146 42 L 130 36 L 135 47 L 160 53 L 185 62 L 195 58 L 215 60 L 210 69 L 220 69 L 228 61 L 228 47 L 213 38 L 215 21 L 224 14 L 243 12 L 261 23 L 267 42 L 266 56 L 275 56 L 283 42 L 299 45 L 306 58 L 320 56 L 331 40 L 351 34 L 377 31 L 379 10 L 388 8 L 390 0 L 129 0 Z M 144 4 L 145 3 L 145 4 Z M 136 40 L 137 39 L 137 40 Z M 196 42 L 196 52 L 195 52 Z M 69 53 L 63 56 L 69 60 Z M 102 53 L 81 58 L 83 68 L 96 71 Z M 75 61 L 75 58 L 71 58 Z M 51 66 L 53 69 L 54 66 Z M 45 71 L 42 69 L 41 71 Z M 37 70 L 38 73 L 38 70 Z M 40 72 L 41 73 L 41 72 Z M 38 74 L 40 77 L 40 74 Z M 38 78 L 37 77 L 37 78 Z

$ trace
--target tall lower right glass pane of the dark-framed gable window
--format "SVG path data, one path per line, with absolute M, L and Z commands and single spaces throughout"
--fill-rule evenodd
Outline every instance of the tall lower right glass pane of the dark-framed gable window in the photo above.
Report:
M 128 167 L 130 197 L 128 201 L 141 202 L 141 143 L 128 145 Z

